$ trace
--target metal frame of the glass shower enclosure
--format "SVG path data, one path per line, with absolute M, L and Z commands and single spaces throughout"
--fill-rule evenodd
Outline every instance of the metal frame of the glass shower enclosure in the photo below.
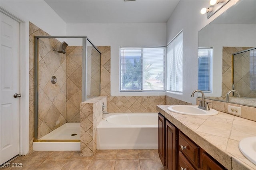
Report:
M 80 38 L 82 39 L 82 101 L 86 101 L 86 68 L 87 68 L 87 40 L 92 44 L 92 46 L 100 53 L 98 48 L 88 39 L 87 36 L 34 36 L 34 142 L 80 142 L 80 140 L 38 140 L 38 65 L 39 65 L 39 55 L 38 55 L 38 44 L 39 38 Z M 100 62 L 101 65 L 101 62 Z M 101 71 L 101 69 L 100 69 Z

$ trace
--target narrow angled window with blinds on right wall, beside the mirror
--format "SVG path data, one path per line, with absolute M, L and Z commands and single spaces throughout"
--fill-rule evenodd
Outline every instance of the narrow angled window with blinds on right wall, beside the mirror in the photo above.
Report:
M 167 46 L 167 91 L 182 93 L 183 90 L 183 33 L 180 32 Z

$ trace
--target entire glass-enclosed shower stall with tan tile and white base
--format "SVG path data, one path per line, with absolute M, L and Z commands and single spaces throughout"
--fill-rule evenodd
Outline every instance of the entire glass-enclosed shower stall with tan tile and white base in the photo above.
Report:
M 80 150 L 80 103 L 100 96 L 100 60 L 86 36 L 34 36 L 33 150 Z

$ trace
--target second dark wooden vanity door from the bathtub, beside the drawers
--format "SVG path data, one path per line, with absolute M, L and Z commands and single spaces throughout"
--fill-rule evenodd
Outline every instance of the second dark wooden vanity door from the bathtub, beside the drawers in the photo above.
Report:
M 166 157 L 166 169 L 176 170 L 176 128 L 169 122 L 165 121 L 165 157 Z

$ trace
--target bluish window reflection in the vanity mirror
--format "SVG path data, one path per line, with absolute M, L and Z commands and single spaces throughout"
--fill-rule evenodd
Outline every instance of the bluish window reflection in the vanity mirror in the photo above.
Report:
M 212 48 L 198 48 L 198 89 L 210 92 Z

